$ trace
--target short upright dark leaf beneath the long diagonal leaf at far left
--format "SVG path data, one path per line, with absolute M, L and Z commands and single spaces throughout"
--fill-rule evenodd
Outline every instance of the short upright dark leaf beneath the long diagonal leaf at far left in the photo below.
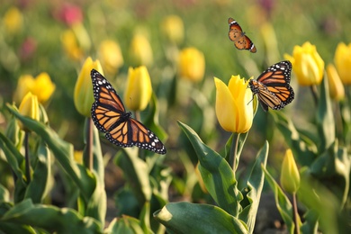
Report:
M 49 177 L 51 176 L 49 148 L 42 141 L 36 159 L 31 183 L 28 184 L 24 198 L 31 198 L 32 202 L 40 203 L 49 192 Z

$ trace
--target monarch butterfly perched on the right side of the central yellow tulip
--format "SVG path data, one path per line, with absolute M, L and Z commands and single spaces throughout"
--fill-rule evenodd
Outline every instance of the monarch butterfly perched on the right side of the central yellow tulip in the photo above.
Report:
M 293 101 L 293 88 L 289 85 L 291 73 L 292 63 L 282 61 L 268 67 L 257 80 L 249 81 L 252 93 L 258 95 L 265 112 L 268 111 L 268 106 L 273 110 L 280 110 Z

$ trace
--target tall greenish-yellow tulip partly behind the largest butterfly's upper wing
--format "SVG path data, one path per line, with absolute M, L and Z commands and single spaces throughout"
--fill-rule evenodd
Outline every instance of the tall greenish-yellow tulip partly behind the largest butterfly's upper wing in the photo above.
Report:
M 99 60 L 93 61 L 92 58 L 88 57 L 80 70 L 75 86 L 74 101 L 76 110 L 85 117 L 90 117 L 90 109 L 92 108 L 92 103 L 94 103 L 93 85 L 90 77 L 90 72 L 93 68 L 103 75 L 103 68 Z

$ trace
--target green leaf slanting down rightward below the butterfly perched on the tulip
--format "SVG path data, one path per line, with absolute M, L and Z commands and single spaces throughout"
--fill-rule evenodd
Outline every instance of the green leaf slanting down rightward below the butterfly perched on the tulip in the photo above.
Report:
M 275 119 L 278 129 L 284 136 L 286 144 L 292 148 L 293 155 L 302 166 L 311 166 L 317 157 L 316 144 L 310 144 L 301 132 L 296 130 L 293 121 L 287 118 L 282 112 L 269 112 Z

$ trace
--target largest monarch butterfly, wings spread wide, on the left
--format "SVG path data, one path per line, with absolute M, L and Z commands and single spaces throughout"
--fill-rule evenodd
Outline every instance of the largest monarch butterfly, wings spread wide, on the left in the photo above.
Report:
M 131 112 L 125 111 L 120 96 L 103 75 L 95 69 L 90 75 L 95 99 L 92 119 L 97 129 L 105 133 L 106 139 L 124 148 L 137 146 L 157 154 L 166 154 L 166 148 L 156 134 L 131 118 Z

